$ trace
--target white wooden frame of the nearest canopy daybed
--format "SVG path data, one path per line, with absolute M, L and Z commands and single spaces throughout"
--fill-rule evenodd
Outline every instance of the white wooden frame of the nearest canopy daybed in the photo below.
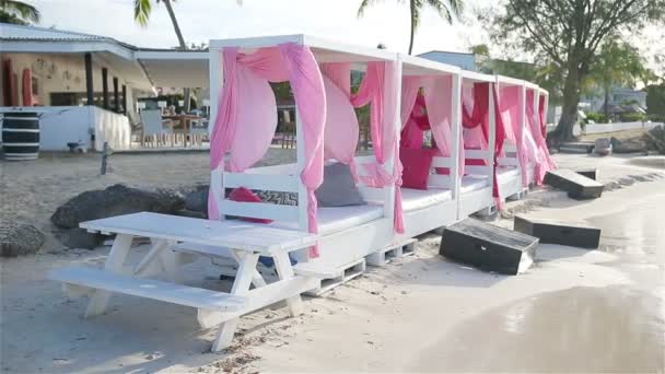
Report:
M 241 39 L 221 39 L 210 42 L 210 92 L 211 102 L 219 101 L 221 92 L 222 61 L 220 54 L 223 48 L 238 47 L 240 52 L 253 54 L 259 48 L 276 47 L 284 43 L 294 43 L 308 46 L 316 62 L 350 62 L 353 70 L 363 70 L 368 62 L 395 62 L 396 71 L 400 66 L 397 63 L 397 54 L 382 49 L 362 48 L 338 44 L 308 35 L 287 35 L 273 37 L 255 37 Z M 399 77 L 399 75 L 396 75 Z M 394 95 L 395 103 L 399 101 L 399 82 L 396 77 L 386 73 L 386 85 L 397 84 L 386 95 Z M 350 81 L 351 77 L 349 77 Z M 393 82 L 388 82 L 393 79 Z M 300 172 L 305 162 L 305 149 L 303 139 L 302 121 L 300 110 L 296 107 L 296 164 L 282 164 L 267 167 L 252 167 L 242 173 L 222 172 L 220 168 L 211 173 L 211 191 L 221 208 L 222 214 L 257 218 L 272 220 L 270 226 L 279 229 L 291 229 L 307 231 L 307 198 L 306 189 L 300 178 Z M 397 116 L 398 114 L 396 114 Z M 217 108 L 212 107 L 211 118 L 217 116 Z M 211 120 L 211 124 L 213 120 Z M 397 117 L 392 120 L 397 131 Z M 211 129 L 212 131 L 212 129 Z M 374 163 L 374 156 L 359 156 L 354 159 L 358 175 L 362 176 L 365 163 Z M 387 160 L 383 167 L 392 173 L 393 159 Z M 223 198 L 221 191 L 226 188 L 245 187 L 248 189 L 283 191 L 298 194 L 298 206 L 281 206 L 261 202 L 235 202 Z M 376 252 L 393 241 L 394 201 L 395 187 L 371 188 L 360 186 L 363 198 L 369 201 L 366 206 L 318 208 L 318 257 L 315 259 L 307 256 L 306 250 L 293 253 L 299 262 L 311 261 L 325 266 L 327 269 L 340 270 L 350 268 L 365 256 Z M 223 215 L 222 215 L 223 217 Z M 259 223 L 260 224 L 260 223 Z

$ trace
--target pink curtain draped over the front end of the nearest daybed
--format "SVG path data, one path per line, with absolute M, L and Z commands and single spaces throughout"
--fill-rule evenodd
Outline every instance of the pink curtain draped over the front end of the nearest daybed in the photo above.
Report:
M 211 170 L 222 166 L 226 152 L 229 163 L 224 167 L 233 172 L 242 172 L 260 160 L 277 127 L 277 106 L 268 81 L 289 80 L 303 129 L 305 160 L 301 180 L 307 189 L 308 231 L 317 233 L 314 191 L 323 182 L 326 95 L 314 55 L 306 46 L 288 43 L 260 48 L 252 55 L 241 55 L 236 47 L 224 48 L 222 59 L 225 82 L 210 141 Z M 220 217 L 212 194 L 208 215 Z M 317 249 L 312 248 L 310 255 L 318 256 Z

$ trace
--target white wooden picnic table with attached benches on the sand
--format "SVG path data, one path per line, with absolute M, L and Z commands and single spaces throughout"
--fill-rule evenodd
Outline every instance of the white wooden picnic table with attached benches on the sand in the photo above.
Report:
M 292 230 L 273 229 L 240 220 L 201 219 L 140 212 L 80 225 L 90 232 L 116 234 L 103 269 L 60 268 L 50 278 L 63 282 L 72 294 L 91 296 L 85 316 L 106 311 L 112 293 L 125 293 L 198 309 L 202 327 L 222 324 L 212 351 L 231 343 L 238 318 L 247 313 L 285 300 L 290 314 L 302 312 L 301 293 L 316 289 L 331 272 L 308 264 L 291 265 L 289 253 L 313 246 L 317 236 Z M 152 247 L 130 273 L 124 272 L 132 238 L 151 238 Z M 232 257 L 238 270 L 230 293 L 182 284 L 183 254 Z M 279 280 L 266 283 L 256 265 L 259 256 L 275 260 Z M 300 271 L 298 271 L 300 267 Z M 170 282 L 144 278 L 149 270 L 163 271 Z M 250 284 L 255 288 L 249 290 Z

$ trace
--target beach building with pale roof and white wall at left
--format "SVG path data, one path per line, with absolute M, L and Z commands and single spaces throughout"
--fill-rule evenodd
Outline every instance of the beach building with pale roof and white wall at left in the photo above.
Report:
M 0 24 L 0 112 L 42 113 L 43 150 L 129 147 L 137 97 L 208 89 L 208 52 L 138 48 L 91 34 Z M 36 108 L 38 107 L 38 108 Z M 136 117 L 133 117 L 136 118 Z

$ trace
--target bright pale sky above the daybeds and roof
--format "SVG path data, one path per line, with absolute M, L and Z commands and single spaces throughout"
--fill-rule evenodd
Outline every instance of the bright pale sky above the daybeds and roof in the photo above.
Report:
M 153 5 L 147 27 L 133 22 L 133 0 L 24 0 L 43 15 L 40 26 L 109 36 L 139 47 L 170 48 L 177 45 L 163 4 Z M 172 0 L 174 1 L 174 0 Z M 413 52 L 433 49 L 468 51 L 477 44 L 490 44 L 483 25 L 474 12 L 499 0 L 465 0 L 462 19 L 452 25 L 432 9 L 425 10 L 416 34 Z M 153 0 L 153 3 L 155 1 Z M 279 34 L 310 34 L 348 44 L 406 52 L 409 45 L 409 12 L 405 1 L 377 0 L 363 17 L 357 16 L 361 0 L 176 0 L 174 10 L 187 43 L 214 38 Z M 655 26 L 641 37 L 632 37 L 649 60 L 649 66 L 665 74 L 665 31 Z M 505 58 L 491 47 L 493 57 Z M 515 57 L 517 60 L 525 58 Z

